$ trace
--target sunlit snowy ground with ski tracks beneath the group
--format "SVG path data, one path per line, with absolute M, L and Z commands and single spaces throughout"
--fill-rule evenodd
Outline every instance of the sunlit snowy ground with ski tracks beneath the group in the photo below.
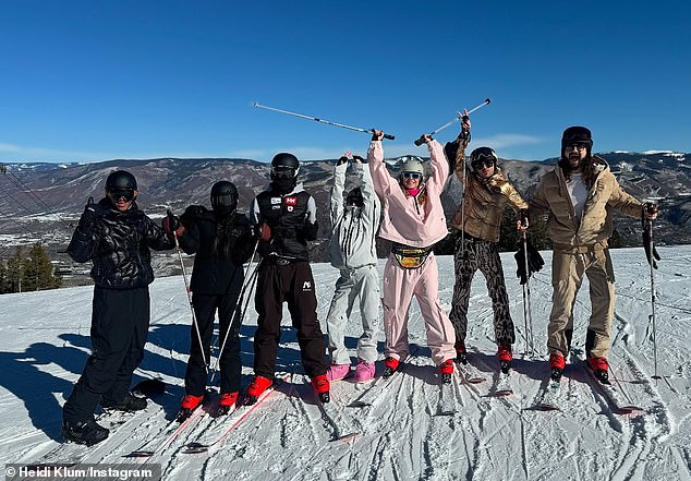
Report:
M 524 350 L 522 290 L 510 254 L 502 260 L 520 340 L 514 350 L 514 394 L 493 396 L 496 370 L 492 309 L 482 275 L 471 298 L 466 344 L 471 363 L 487 381 L 470 385 L 457 378 L 459 410 L 436 416 L 439 387 L 425 347 L 417 305 L 410 317 L 416 356 L 397 374 L 385 396 L 369 407 L 346 407 L 364 387 L 336 383 L 332 398 L 344 419 L 361 432 L 331 441 L 334 428 L 315 404 L 299 363 L 295 335 L 288 323 L 278 369 L 292 373 L 274 395 L 248 414 L 219 445 L 204 454 L 183 447 L 199 436 L 209 418 L 190 425 L 153 458 L 122 456 L 155 438 L 174 417 L 189 350 L 190 310 L 181 277 L 151 286 L 153 318 L 147 354 L 140 375 L 160 374 L 168 393 L 149 402 L 128 424 L 93 448 L 87 462 L 160 464 L 168 480 L 690 480 L 691 479 L 691 246 L 659 249 L 656 270 L 657 364 L 653 380 L 653 344 L 646 337 L 651 281 L 642 249 L 613 251 L 618 303 L 610 356 L 616 385 L 635 405 L 637 414 L 614 413 L 586 372 L 568 365 L 567 398 L 560 411 L 535 409 L 548 376 L 546 320 L 550 309 L 550 254 L 534 280 L 532 313 L 534 358 Z M 384 266 L 384 261 L 380 267 Z M 450 309 L 452 260 L 439 260 L 441 302 Z M 314 265 L 324 321 L 337 270 Z M 574 346 L 582 347 L 590 314 L 585 284 L 575 308 Z M 92 289 L 88 287 L 0 296 L 0 461 L 35 462 L 60 440 L 60 407 L 78 377 L 89 347 Z M 250 309 L 242 329 L 242 357 L 252 365 L 251 336 L 256 314 Z M 354 313 L 348 345 L 359 335 Z M 383 340 L 383 338 L 381 338 Z M 380 344 L 381 348 L 381 344 Z M 378 365 L 378 371 L 381 366 Z M 251 369 L 243 371 L 243 383 Z M 155 444 L 155 443 L 154 443 Z M 73 445 L 72 445 L 73 446 Z

